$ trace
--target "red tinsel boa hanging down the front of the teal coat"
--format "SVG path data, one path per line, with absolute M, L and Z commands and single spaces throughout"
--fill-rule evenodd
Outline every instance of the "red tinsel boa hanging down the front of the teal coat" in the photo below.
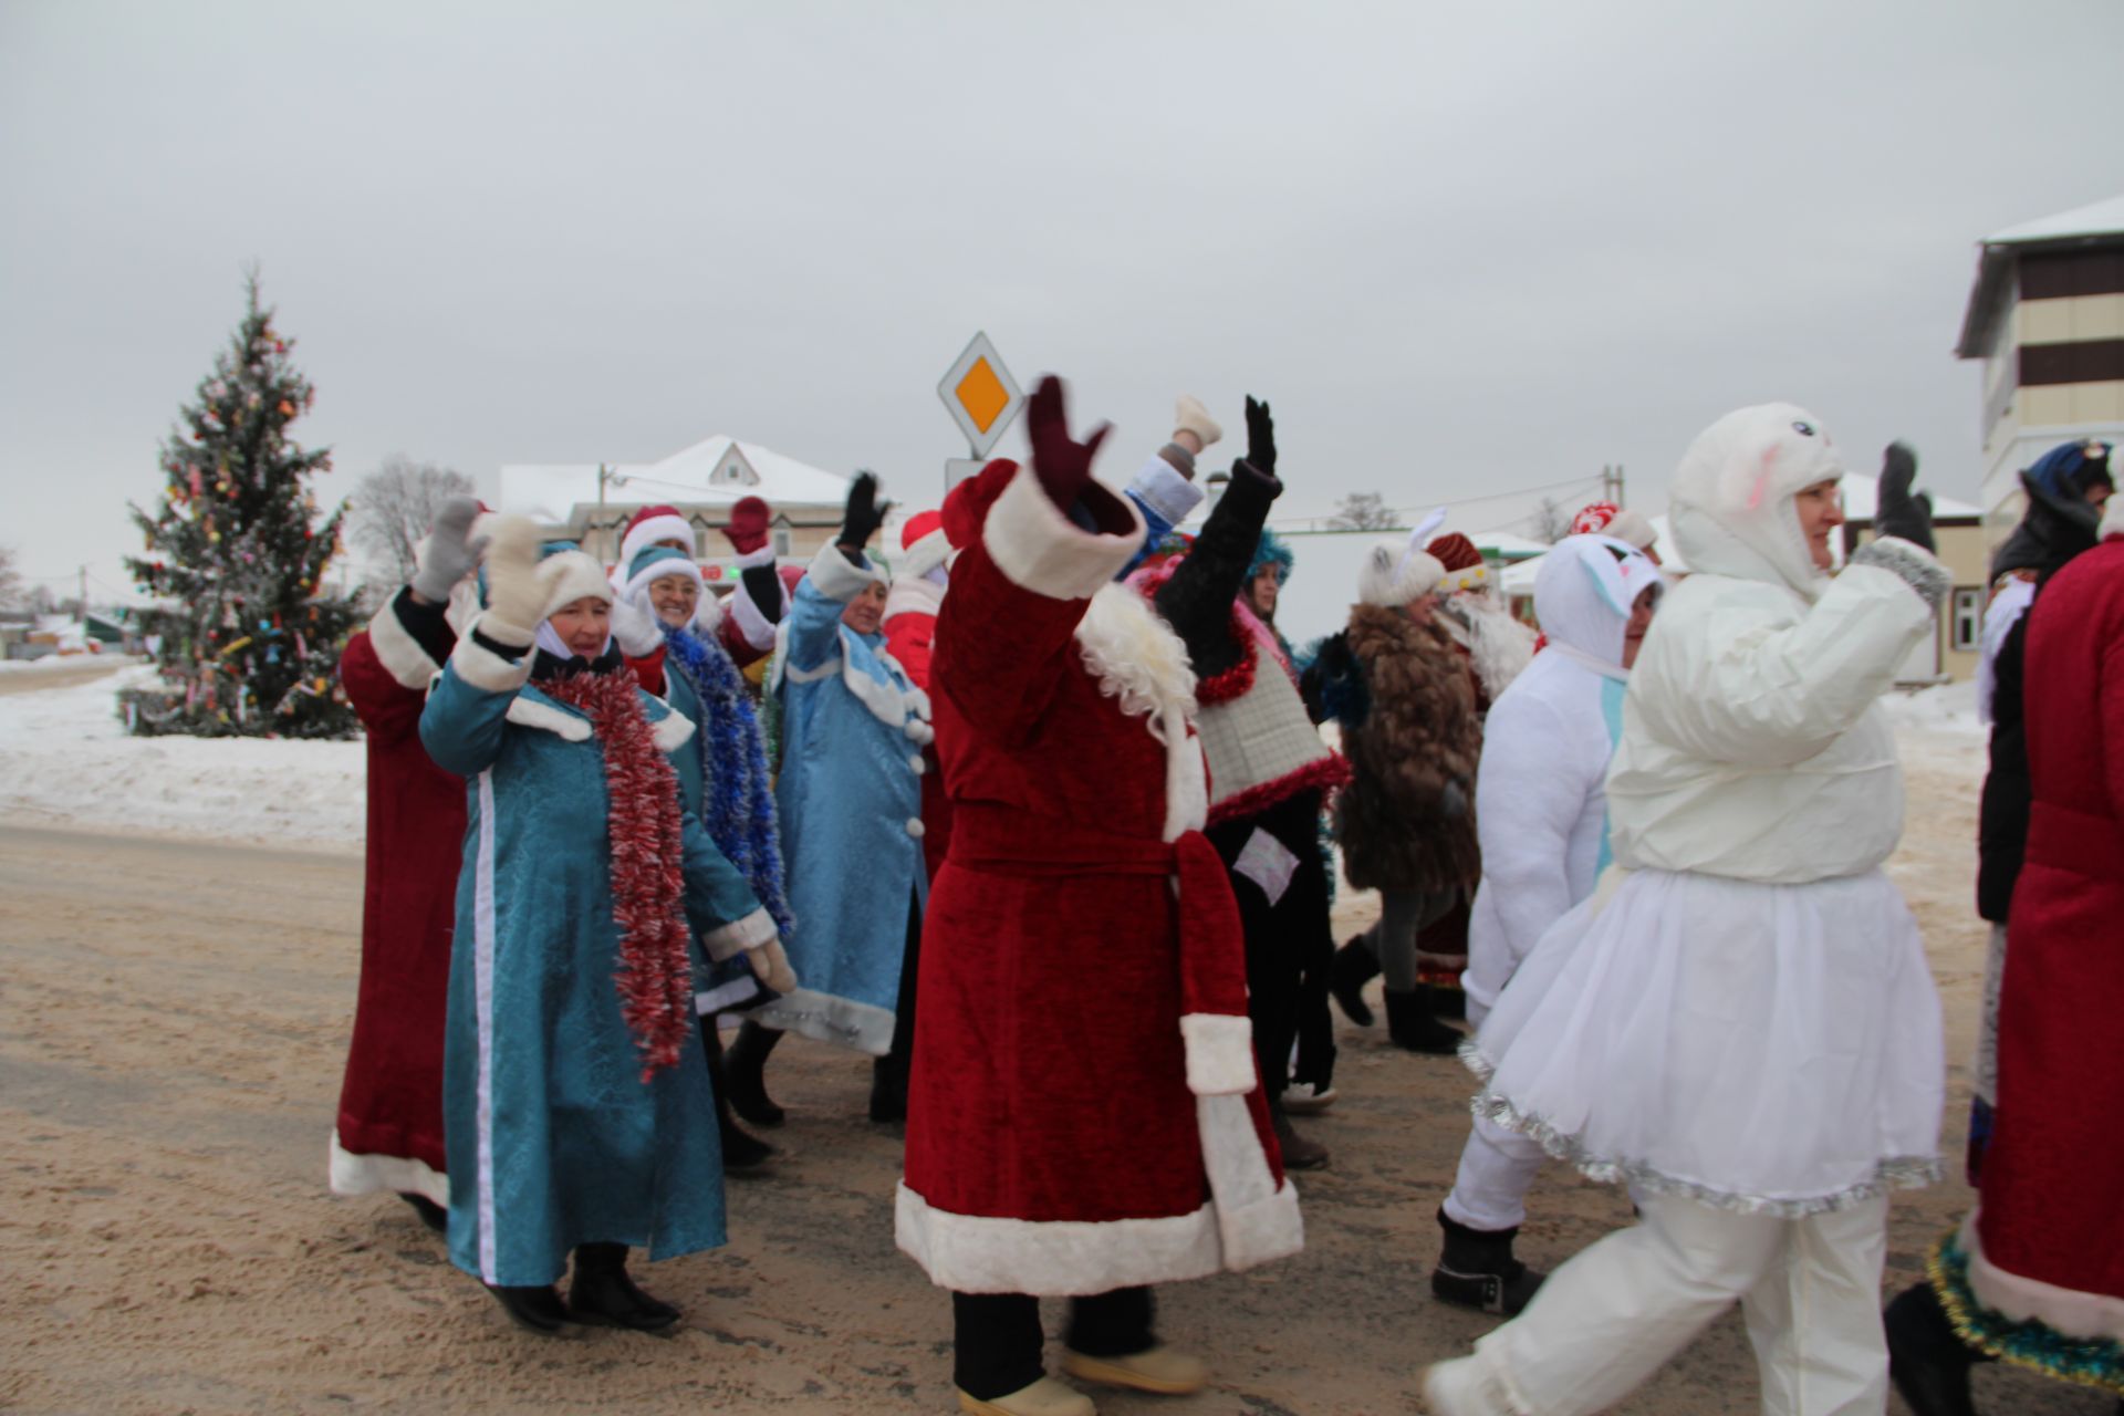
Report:
M 588 715 L 605 749 L 612 919 L 620 926 L 620 1013 L 641 1051 L 641 1081 L 678 1066 L 692 1036 L 692 930 L 678 773 L 656 749 L 631 673 L 546 679 L 539 692 Z

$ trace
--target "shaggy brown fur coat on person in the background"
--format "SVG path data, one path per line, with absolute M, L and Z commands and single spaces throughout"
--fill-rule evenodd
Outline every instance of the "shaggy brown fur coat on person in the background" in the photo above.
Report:
M 1483 720 L 1468 656 L 1438 624 L 1381 605 L 1353 605 L 1347 639 L 1370 705 L 1364 722 L 1342 728 L 1353 769 L 1334 813 L 1342 873 L 1357 890 L 1474 890 Z M 1459 788 L 1459 815 L 1449 815 L 1449 785 Z

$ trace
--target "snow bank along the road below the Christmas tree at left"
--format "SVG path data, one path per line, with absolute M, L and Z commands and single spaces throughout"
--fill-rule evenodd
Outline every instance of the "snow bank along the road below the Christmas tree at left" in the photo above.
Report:
M 142 664 L 0 696 L 0 811 L 15 822 L 361 845 L 363 743 L 127 737 L 113 711 L 117 690 L 153 677 Z

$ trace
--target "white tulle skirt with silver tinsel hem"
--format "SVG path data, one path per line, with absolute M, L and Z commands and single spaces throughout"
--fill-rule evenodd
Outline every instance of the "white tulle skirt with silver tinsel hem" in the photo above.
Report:
M 1476 1115 L 1595 1180 L 1797 1219 L 1939 1176 L 1939 996 L 1880 870 L 1629 875 L 1542 936 L 1461 1053 Z

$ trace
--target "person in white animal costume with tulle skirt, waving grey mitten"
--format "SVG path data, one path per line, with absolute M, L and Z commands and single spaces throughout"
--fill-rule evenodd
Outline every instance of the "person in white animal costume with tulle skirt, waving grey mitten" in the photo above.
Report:
M 1844 573 L 1844 465 L 1791 403 L 1727 414 L 1674 476 L 1695 571 L 1631 671 L 1608 771 L 1627 873 L 1542 936 L 1468 1049 L 1476 1108 L 1642 1223 L 1563 1263 L 1472 1357 L 1440 1416 L 1599 1412 L 1735 1299 L 1776 1416 L 1878 1416 L 1886 1191 L 1937 1176 L 1939 998 L 1880 866 L 1903 826 L 1875 698 L 1950 577 L 1882 478 Z M 1899 476 L 1897 476 L 1899 473 Z

